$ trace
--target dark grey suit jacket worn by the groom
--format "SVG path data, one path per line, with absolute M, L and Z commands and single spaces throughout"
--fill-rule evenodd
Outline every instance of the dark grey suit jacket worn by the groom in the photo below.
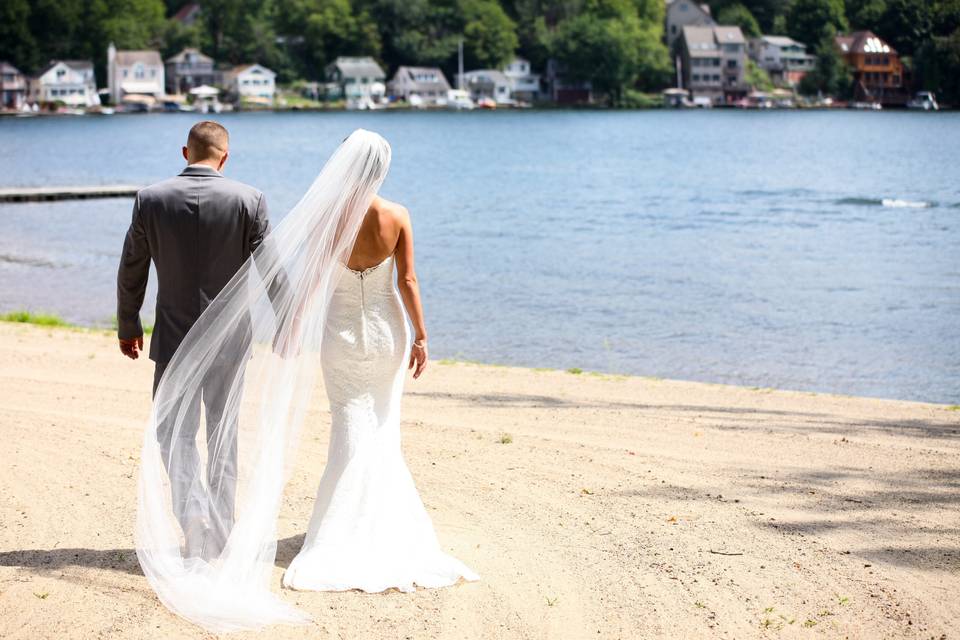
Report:
M 143 335 L 140 308 L 152 259 L 158 290 L 150 359 L 169 362 L 269 230 L 263 194 L 210 167 L 192 165 L 141 189 L 117 274 L 119 337 Z

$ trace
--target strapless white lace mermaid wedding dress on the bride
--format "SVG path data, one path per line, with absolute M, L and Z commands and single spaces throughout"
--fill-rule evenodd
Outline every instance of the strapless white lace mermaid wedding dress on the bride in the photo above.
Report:
M 341 266 L 324 329 L 330 401 L 327 466 L 303 548 L 283 585 L 368 592 L 442 587 L 479 576 L 446 554 L 400 450 L 400 399 L 410 331 L 393 257 Z

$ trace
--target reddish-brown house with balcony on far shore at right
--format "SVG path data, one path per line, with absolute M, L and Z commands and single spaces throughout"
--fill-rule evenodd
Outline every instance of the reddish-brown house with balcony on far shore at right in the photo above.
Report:
M 854 100 L 903 106 L 903 64 L 896 50 L 872 31 L 855 31 L 835 40 L 853 72 Z

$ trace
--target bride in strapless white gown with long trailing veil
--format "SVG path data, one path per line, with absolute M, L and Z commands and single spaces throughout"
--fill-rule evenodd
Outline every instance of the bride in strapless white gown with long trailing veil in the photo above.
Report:
M 190 330 L 157 389 L 141 460 L 137 555 L 161 601 L 210 631 L 309 621 L 270 583 L 283 488 L 318 369 L 330 403 L 327 465 L 283 585 L 412 591 L 479 579 L 440 548 L 400 449 L 405 370 L 420 376 L 427 345 L 409 215 L 377 195 L 390 155 L 368 131 L 344 140 Z M 187 447 L 163 455 L 159 443 L 178 442 L 211 371 L 236 373 L 222 385 L 220 423 L 207 425 L 206 454 L 215 460 L 236 448 L 239 463 L 197 477 L 180 454 Z M 217 474 L 236 474 L 236 482 Z M 186 499 L 171 500 L 171 480 L 189 486 Z M 211 495 L 224 486 L 238 487 L 236 496 Z M 225 515 L 223 503 L 234 512 Z M 227 533 L 198 556 L 186 530 Z

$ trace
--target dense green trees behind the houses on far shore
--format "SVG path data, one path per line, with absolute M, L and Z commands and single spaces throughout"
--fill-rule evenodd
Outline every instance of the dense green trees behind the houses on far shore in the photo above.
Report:
M 105 78 L 107 44 L 187 46 L 221 63 L 260 62 L 281 82 L 319 80 L 340 55 L 370 55 L 386 71 L 405 65 L 456 71 L 498 68 L 515 54 L 544 69 L 556 60 L 613 104 L 672 82 L 663 0 L 201 0 L 200 18 L 172 19 L 188 0 L 0 0 L 0 59 L 35 73 L 51 59 L 91 59 Z M 707 0 L 721 24 L 746 36 L 786 34 L 817 66 L 808 92 L 844 95 L 849 71 L 833 45 L 870 29 L 903 57 L 916 88 L 960 100 L 960 0 Z

